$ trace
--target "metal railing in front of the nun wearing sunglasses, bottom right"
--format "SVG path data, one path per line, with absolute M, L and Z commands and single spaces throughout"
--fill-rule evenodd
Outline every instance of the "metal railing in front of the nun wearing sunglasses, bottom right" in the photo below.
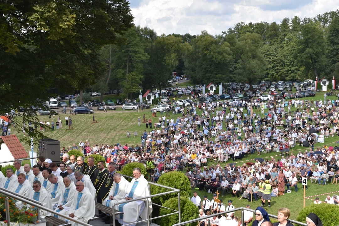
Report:
M 232 212 L 239 211 L 239 210 L 241 210 L 241 224 L 244 226 L 245 225 L 245 223 L 244 223 L 244 211 L 247 210 L 247 211 L 255 213 L 254 209 L 247 209 L 245 207 L 239 207 L 239 208 L 235 208 L 235 209 L 220 212 L 220 213 L 206 215 L 205 217 L 202 217 L 202 218 L 197 218 L 197 219 L 193 219 L 193 220 L 185 221 L 185 222 L 179 222 L 178 224 L 174 224 L 173 226 L 181 226 L 181 225 L 185 225 L 185 224 L 191 224 L 191 223 L 199 222 L 199 221 L 202 221 L 202 220 L 205 220 L 205 219 L 208 219 L 208 226 L 211 226 L 210 218 L 218 217 L 219 215 L 226 214 L 226 213 L 232 213 Z M 278 216 L 273 215 L 273 214 L 268 214 L 268 216 L 271 217 L 271 218 L 278 219 Z M 255 220 L 255 217 L 254 217 L 253 220 Z M 299 222 L 299 221 L 294 221 L 294 220 L 288 220 L 288 221 L 290 221 L 291 223 L 294 223 L 294 224 L 307 226 L 307 224 Z

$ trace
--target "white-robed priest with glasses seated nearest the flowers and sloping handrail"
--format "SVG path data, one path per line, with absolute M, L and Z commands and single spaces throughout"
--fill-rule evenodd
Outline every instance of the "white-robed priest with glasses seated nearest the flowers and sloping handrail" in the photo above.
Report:
M 33 191 L 29 198 L 34 199 L 35 201 L 39 201 L 42 205 L 48 209 L 52 209 L 52 202 L 49 194 L 46 189 L 42 187 L 40 181 L 33 182 Z M 36 208 L 36 207 L 35 207 Z M 40 209 L 40 217 L 45 218 L 46 216 L 51 216 L 52 214 L 48 211 Z

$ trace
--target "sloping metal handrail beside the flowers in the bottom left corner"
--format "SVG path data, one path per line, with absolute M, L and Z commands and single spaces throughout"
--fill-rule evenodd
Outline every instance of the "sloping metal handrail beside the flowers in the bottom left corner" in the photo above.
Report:
M 5 190 L 7 190 L 7 189 L 5 189 Z M 0 189 L 0 193 L 1 193 L 1 194 L 4 194 L 5 196 L 7 196 L 7 198 L 5 198 L 5 206 L 6 206 L 6 209 L 9 209 L 8 197 L 11 197 L 11 198 L 16 199 L 16 200 L 19 200 L 19 201 L 21 201 L 21 202 L 27 203 L 28 205 L 35 206 L 35 207 L 37 207 L 37 210 L 42 209 L 42 210 L 45 210 L 45 211 L 50 212 L 50 213 L 52 213 L 52 214 L 58 215 L 58 216 L 60 216 L 60 217 L 62 217 L 62 218 L 65 218 L 65 219 L 67 219 L 67 220 L 69 220 L 69 221 L 74 221 L 75 223 L 78 223 L 78 224 L 81 224 L 81 225 L 84 225 L 84 226 L 91 226 L 91 225 L 89 225 L 89 224 L 87 224 L 87 223 L 81 222 L 81 221 L 76 220 L 76 219 L 74 219 L 74 218 L 71 218 L 71 217 L 69 217 L 69 216 L 67 216 L 67 215 L 61 214 L 61 213 L 59 213 L 59 212 L 57 212 L 57 211 L 48 209 L 47 207 L 44 207 L 44 206 L 42 206 L 42 205 L 40 205 L 40 204 L 37 204 L 36 201 L 35 201 L 35 202 L 32 202 L 32 201 L 30 201 L 31 199 L 28 200 L 26 197 L 25 197 L 25 198 L 21 198 L 21 197 L 18 196 L 18 194 L 15 194 L 15 195 L 14 195 L 14 194 L 12 194 L 12 192 L 4 191 L 3 188 Z M 6 201 L 6 199 L 7 199 L 7 201 Z M 9 211 L 6 211 L 6 221 L 7 221 L 7 226 L 9 226 L 10 223 L 11 223 L 11 221 L 10 221 L 10 219 L 9 219 Z

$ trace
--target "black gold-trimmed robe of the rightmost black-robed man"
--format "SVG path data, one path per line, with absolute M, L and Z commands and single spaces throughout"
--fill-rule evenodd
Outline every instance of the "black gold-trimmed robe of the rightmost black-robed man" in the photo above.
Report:
M 102 201 L 108 196 L 108 193 L 113 186 L 114 180 L 113 175 L 109 173 L 109 171 L 106 169 L 101 173 L 101 175 L 99 172 L 99 178 L 101 180 L 99 181 L 98 186 L 96 187 L 97 202 L 102 203 Z

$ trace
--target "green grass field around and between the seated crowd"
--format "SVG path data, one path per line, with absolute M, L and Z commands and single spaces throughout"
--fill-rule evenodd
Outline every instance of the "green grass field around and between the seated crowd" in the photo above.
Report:
M 111 97 L 104 97 L 104 100 L 106 99 L 115 99 Z M 309 99 L 309 100 L 323 100 L 323 93 L 317 94 L 316 97 L 309 97 L 309 98 L 303 98 L 303 100 Z M 329 97 L 329 99 L 337 99 L 337 97 Z M 295 110 L 292 109 L 292 110 Z M 258 111 L 259 112 L 259 111 Z M 201 112 L 198 112 L 200 115 Z M 63 128 L 55 131 L 45 131 L 44 134 L 53 139 L 57 139 L 60 141 L 61 147 L 65 146 L 66 148 L 68 146 L 72 146 L 73 143 L 78 144 L 80 140 L 88 140 L 91 145 L 93 144 L 116 144 L 116 143 L 122 143 L 124 144 L 139 144 L 140 145 L 140 135 L 145 129 L 145 123 L 141 123 L 141 126 L 138 126 L 137 119 L 140 117 L 141 121 L 143 119 L 143 114 L 146 115 L 146 119 L 151 118 L 152 122 L 154 120 L 157 120 L 159 117 L 160 112 L 157 113 L 157 118 L 152 118 L 152 113 L 150 109 L 144 109 L 143 112 L 139 111 L 132 111 L 132 110 L 125 110 L 122 111 L 119 108 L 116 111 L 95 111 L 95 119 L 98 120 L 98 123 L 92 124 L 93 121 L 93 115 L 87 115 L 87 114 L 81 114 L 81 115 L 74 115 L 72 116 L 73 121 L 73 130 L 66 130 L 65 125 L 65 116 L 63 114 L 59 114 L 58 116 L 61 117 L 61 120 L 63 122 Z M 179 115 L 169 115 L 169 118 L 176 118 Z M 42 119 L 43 121 L 48 120 L 48 116 L 38 116 L 39 119 Z M 57 116 L 56 116 L 57 119 Z M 52 120 L 52 119 L 51 119 Z M 51 122 L 51 120 L 49 120 Z M 131 132 L 131 138 L 126 138 L 126 131 L 129 130 Z M 146 131 L 149 131 L 150 129 L 147 129 Z M 12 130 L 13 131 L 13 130 Z M 134 137 L 134 132 L 138 132 L 138 136 Z M 14 131 L 12 133 L 15 133 Z M 23 138 L 22 133 L 17 133 L 18 138 Z M 329 144 L 337 141 L 337 137 L 330 137 L 325 139 L 324 144 Z M 315 146 L 323 146 L 324 144 L 317 143 Z M 26 150 L 30 149 L 30 146 L 27 144 L 23 144 Z M 335 144 L 332 144 L 333 146 Z M 298 150 L 304 151 L 305 148 L 296 146 L 294 149 L 294 154 L 298 153 Z M 269 154 L 263 154 L 260 157 L 261 158 L 268 158 L 273 155 L 278 155 L 278 152 L 273 152 Z M 242 161 L 245 161 L 245 163 L 248 161 L 250 162 L 251 159 L 254 159 L 258 157 L 257 154 L 251 155 L 249 157 L 245 157 L 242 159 Z M 279 157 L 275 157 L 276 159 Z M 228 161 L 229 163 L 232 163 L 232 159 Z M 239 161 L 236 161 L 239 162 Z M 210 161 L 209 165 L 214 163 L 214 161 Z M 243 162 L 242 162 L 243 163 Z M 242 164 L 241 163 L 241 164 Z M 306 190 L 306 196 L 312 196 L 316 194 L 321 193 L 327 193 L 327 192 L 333 192 L 333 191 L 339 191 L 339 185 L 318 185 L 318 184 L 310 184 L 310 181 L 308 181 L 308 190 Z M 192 196 L 193 196 L 192 190 Z M 212 199 L 212 194 L 208 194 L 205 191 L 198 191 L 198 195 L 200 198 L 202 198 L 204 195 L 208 196 L 208 199 Z M 227 200 L 232 200 L 233 205 L 235 207 L 240 206 L 246 206 L 248 202 L 246 200 L 239 200 L 237 198 L 233 198 L 230 194 L 227 194 L 225 197 L 221 197 L 224 201 L 224 204 L 227 205 Z M 326 198 L 326 195 L 319 197 L 321 201 L 324 201 Z M 306 205 L 312 204 L 313 201 L 306 199 Z M 251 208 L 256 208 L 257 206 L 260 206 L 261 202 L 253 202 L 251 205 Z M 267 204 L 265 206 L 265 209 L 268 211 L 268 213 L 271 214 L 277 214 L 277 210 L 280 207 L 287 207 L 291 210 L 291 219 L 296 219 L 299 211 L 303 208 L 303 190 L 301 189 L 301 184 L 298 184 L 298 192 L 295 192 L 292 190 L 292 193 L 285 194 L 283 197 L 278 198 L 272 198 L 272 207 L 268 208 Z M 237 216 L 240 216 L 240 212 L 236 213 Z

